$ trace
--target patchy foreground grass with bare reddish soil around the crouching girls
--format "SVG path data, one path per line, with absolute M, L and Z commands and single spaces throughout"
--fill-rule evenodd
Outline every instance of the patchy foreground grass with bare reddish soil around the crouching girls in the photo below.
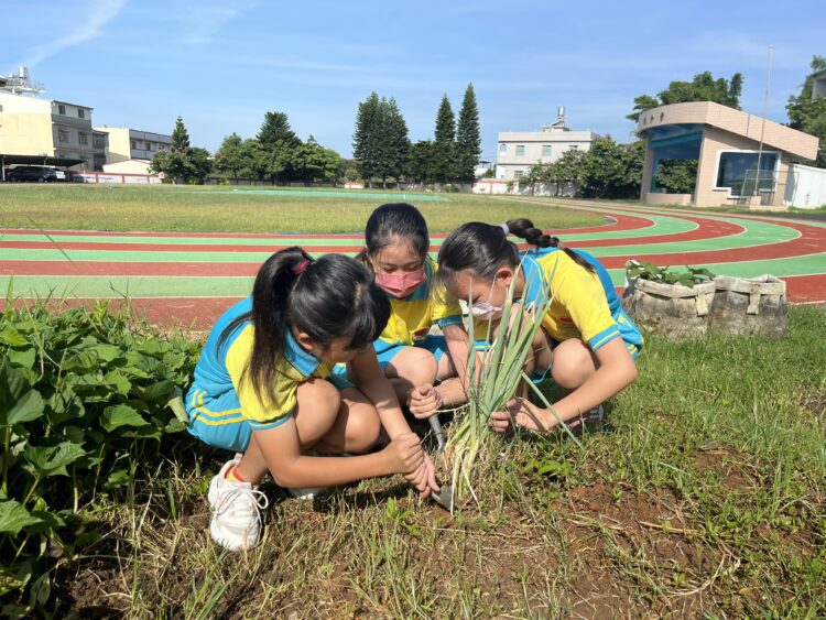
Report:
M 56 613 L 820 617 L 824 333 L 826 311 L 795 307 L 782 341 L 649 337 L 640 378 L 583 448 L 491 439 L 480 507 L 450 516 L 401 478 L 313 503 L 269 486 L 247 554 L 206 532 L 226 455 L 178 439 L 122 497 L 81 510 L 105 535 L 57 569 Z

